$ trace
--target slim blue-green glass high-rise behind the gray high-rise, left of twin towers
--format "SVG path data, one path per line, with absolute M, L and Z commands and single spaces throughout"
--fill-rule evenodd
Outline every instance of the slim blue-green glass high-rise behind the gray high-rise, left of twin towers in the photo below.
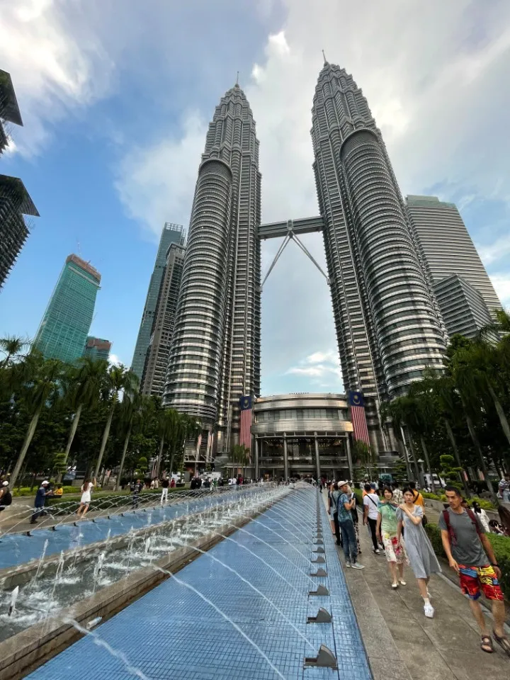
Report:
M 149 290 L 147 290 L 147 299 L 145 300 L 145 307 L 142 314 L 142 322 L 140 323 L 140 330 L 135 345 L 135 353 L 133 354 L 131 362 L 131 370 L 135 375 L 142 380 L 143 370 L 145 366 L 145 359 L 147 358 L 147 348 L 152 334 L 152 326 L 154 325 L 154 317 L 157 310 L 157 300 L 159 295 L 159 288 L 161 286 L 165 263 L 166 252 L 171 243 L 179 245 L 184 244 L 186 234 L 182 225 L 174 225 L 171 222 L 165 222 L 161 238 L 159 239 L 159 247 L 154 263 L 154 271 L 149 281 Z

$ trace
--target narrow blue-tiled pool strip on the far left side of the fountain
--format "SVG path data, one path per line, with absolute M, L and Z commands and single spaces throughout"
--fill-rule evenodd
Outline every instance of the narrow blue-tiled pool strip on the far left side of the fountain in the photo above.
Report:
M 69 522 L 57 525 L 55 531 L 51 528 L 37 529 L 33 531 L 32 536 L 26 534 L 12 533 L 6 536 L 0 536 L 0 570 L 7 567 L 16 567 L 24 564 L 30 560 L 36 560 L 42 554 L 45 543 L 47 542 L 45 555 L 57 555 L 61 550 L 71 550 L 89 543 L 96 543 L 98 540 L 104 540 L 109 535 L 111 538 L 120 536 L 123 533 L 128 533 L 130 528 L 140 529 L 144 526 L 152 526 L 154 524 L 171 521 L 176 517 L 185 516 L 187 514 L 198 512 L 200 510 L 215 507 L 220 504 L 227 503 L 234 499 L 247 497 L 250 494 L 263 492 L 262 487 L 246 487 L 246 489 L 233 489 L 216 494 L 205 492 L 203 497 L 193 498 L 189 501 L 183 499 L 176 499 L 178 502 L 168 504 L 167 506 L 150 506 L 149 508 L 140 509 L 136 511 L 124 511 L 123 514 L 111 514 L 103 516 L 99 519 L 84 519 L 77 522 L 77 526 Z M 152 501 L 154 503 L 154 501 Z M 129 503 L 129 499 L 128 499 Z M 89 515 L 87 515 L 89 518 Z M 75 516 L 76 519 L 76 516 Z

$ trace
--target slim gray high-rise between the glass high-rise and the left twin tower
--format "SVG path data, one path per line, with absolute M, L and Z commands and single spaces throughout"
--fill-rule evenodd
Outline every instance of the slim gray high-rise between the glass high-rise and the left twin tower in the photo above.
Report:
M 163 395 L 177 298 L 181 288 L 184 252 L 184 246 L 171 243 L 166 253 L 166 265 L 159 286 L 156 313 L 140 383 L 142 395 L 157 395 L 158 397 Z

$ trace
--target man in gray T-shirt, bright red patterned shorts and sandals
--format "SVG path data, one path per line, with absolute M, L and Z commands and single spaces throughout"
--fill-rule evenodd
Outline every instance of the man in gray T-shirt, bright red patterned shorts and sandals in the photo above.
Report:
M 487 635 L 485 616 L 478 601 L 481 591 L 487 599 L 492 600 L 494 640 L 510 657 L 510 642 L 503 628 L 505 618 L 503 593 L 498 581 L 501 572 L 492 545 L 475 513 L 463 508 L 463 497 L 459 489 L 446 487 L 446 498 L 450 507 L 441 513 L 439 519 L 443 548 L 450 567 L 459 574 L 460 588 L 469 596 L 471 611 L 482 633 L 482 650 L 488 654 L 494 652 L 491 636 Z

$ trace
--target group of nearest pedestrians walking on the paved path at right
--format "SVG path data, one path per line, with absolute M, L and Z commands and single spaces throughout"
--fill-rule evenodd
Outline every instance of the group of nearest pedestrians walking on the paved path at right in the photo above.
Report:
M 457 487 L 448 485 L 444 492 L 448 503 L 438 521 L 443 550 L 450 568 L 458 574 L 460 588 L 468 596 L 472 614 L 480 627 L 480 648 L 492 653 L 494 642 L 497 642 L 510 657 L 510 641 L 504 632 L 501 571 L 487 538 L 492 522 L 498 523 L 489 521 L 480 503 L 473 502 L 469 507 Z M 409 482 L 400 489 L 398 483 L 380 488 L 374 482 L 365 482 L 362 520 L 356 508 L 356 494 L 347 481 L 329 482 L 327 493 L 331 530 L 337 545 L 344 550 L 345 566 L 364 568 L 358 562 L 361 553 L 358 526 L 362 521 L 368 528 L 373 553 L 385 554 L 392 589 L 407 585 L 404 567 L 411 567 L 423 599 L 424 615 L 433 618 L 429 580 L 431 574 L 441 573 L 441 565 L 424 530 L 427 523 L 424 498 L 416 484 Z M 492 635 L 487 632 L 479 602 L 482 593 L 492 602 Z

